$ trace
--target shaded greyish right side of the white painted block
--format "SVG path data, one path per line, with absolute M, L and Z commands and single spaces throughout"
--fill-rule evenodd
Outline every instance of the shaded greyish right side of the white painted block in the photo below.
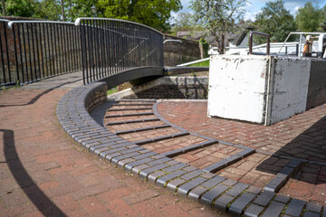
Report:
M 311 63 L 307 58 L 273 58 L 272 114 L 267 122 L 274 124 L 305 111 Z

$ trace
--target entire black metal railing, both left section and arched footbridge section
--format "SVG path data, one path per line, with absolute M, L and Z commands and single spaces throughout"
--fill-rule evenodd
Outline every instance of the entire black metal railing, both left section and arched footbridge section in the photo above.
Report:
M 72 71 L 82 71 L 86 84 L 139 67 L 163 67 L 163 35 L 143 24 L 0 20 L 0 29 L 0 86 Z

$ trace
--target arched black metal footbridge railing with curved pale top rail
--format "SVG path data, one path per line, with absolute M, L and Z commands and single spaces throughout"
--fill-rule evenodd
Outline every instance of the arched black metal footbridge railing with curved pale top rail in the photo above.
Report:
M 163 67 L 163 35 L 129 21 L 78 18 L 84 83 L 144 66 Z

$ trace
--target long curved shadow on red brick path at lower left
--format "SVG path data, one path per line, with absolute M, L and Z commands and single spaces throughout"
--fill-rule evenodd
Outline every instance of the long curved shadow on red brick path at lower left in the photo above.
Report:
M 60 208 L 58 208 L 34 183 L 32 177 L 26 172 L 24 165 L 20 161 L 15 146 L 14 146 L 14 131 L 9 129 L 0 129 L 4 133 L 4 152 L 5 162 L 14 180 L 22 188 L 29 200 L 34 203 L 37 209 L 43 213 L 44 216 L 66 216 Z M 27 189 L 34 189 L 33 193 Z

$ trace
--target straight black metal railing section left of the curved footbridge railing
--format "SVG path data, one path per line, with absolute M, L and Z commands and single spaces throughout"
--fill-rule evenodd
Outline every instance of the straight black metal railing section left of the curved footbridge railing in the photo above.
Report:
M 11 46 L 8 71 L 3 74 L 11 74 L 11 83 L 29 83 L 82 70 L 79 28 L 73 23 L 11 21 L 7 32 L 10 35 L 6 41 Z

